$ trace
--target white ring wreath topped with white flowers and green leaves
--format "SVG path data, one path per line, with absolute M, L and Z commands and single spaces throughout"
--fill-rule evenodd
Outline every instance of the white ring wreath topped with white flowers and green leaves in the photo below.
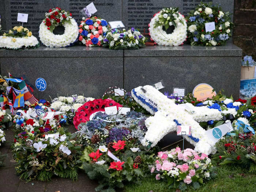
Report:
M 174 26 L 173 33 L 167 34 L 170 26 Z M 149 35 L 151 41 L 155 44 L 165 46 L 182 45 L 187 38 L 187 23 L 183 15 L 178 13 L 178 8 L 163 8 L 154 15 L 149 26 Z M 163 30 L 165 27 L 165 30 Z

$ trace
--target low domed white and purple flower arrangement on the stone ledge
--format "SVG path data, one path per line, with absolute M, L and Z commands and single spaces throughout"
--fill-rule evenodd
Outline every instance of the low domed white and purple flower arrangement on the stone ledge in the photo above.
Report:
M 113 29 L 103 39 L 103 46 L 109 49 L 139 49 L 145 47 L 146 38 L 134 27 L 128 31 Z

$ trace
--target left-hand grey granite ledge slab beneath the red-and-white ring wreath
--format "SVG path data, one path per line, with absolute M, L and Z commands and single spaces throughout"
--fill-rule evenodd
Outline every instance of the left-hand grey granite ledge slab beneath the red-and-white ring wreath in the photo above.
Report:
M 68 48 L 50 48 L 41 45 L 37 49 L 0 50 L 0 57 L 123 57 L 123 50 L 76 45 Z

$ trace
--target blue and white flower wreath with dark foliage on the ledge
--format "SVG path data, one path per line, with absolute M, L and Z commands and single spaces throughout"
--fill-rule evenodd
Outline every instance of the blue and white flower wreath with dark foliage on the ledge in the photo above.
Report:
M 188 19 L 188 39 L 191 45 L 216 46 L 225 45 L 231 37 L 233 28 L 230 13 L 222 12 L 221 7 L 199 4 L 196 11 L 191 11 Z M 215 30 L 207 31 L 206 23 L 214 22 Z

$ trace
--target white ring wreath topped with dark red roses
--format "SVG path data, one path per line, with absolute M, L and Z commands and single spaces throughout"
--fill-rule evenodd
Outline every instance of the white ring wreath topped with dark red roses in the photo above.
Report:
M 67 47 L 72 46 L 78 39 L 78 25 L 72 14 L 61 8 L 50 9 L 45 14 L 45 19 L 39 27 L 39 38 L 48 47 Z M 56 26 L 64 26 L 65 31 L 62 35 L 53 34 Z

